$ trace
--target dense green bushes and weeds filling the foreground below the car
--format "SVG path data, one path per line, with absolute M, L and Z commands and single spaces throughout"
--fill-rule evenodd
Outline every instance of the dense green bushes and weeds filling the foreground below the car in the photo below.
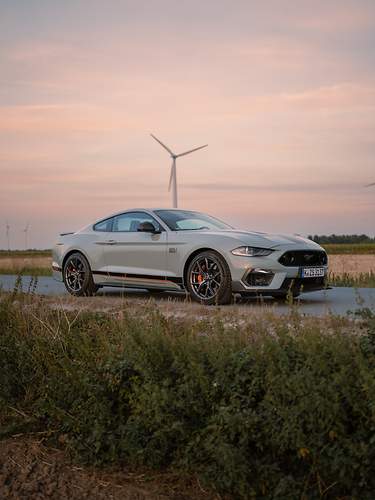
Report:
M 93 464 L 172 467 L 235 498 L 375 491 L 375 321 L 252 327 L 0 299 L 1 435 Z M 354 324 L 354 323 L 353 323 Z

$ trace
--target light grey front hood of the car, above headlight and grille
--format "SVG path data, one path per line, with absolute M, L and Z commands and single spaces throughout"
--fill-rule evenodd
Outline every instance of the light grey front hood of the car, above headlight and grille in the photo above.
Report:
M 275 248 L 285 245 L 301 245 L 303 248 L 321 249 L 320 245 L 307 238 L 299 235 L 283 235 L 283 234 L 269 234 L 259 233 L 256 231 L 240 231 L 237 229 L 215 231 L 217 235 L 229 236 L 238 240 L 243 245 L 261 247 L 261 248 Z

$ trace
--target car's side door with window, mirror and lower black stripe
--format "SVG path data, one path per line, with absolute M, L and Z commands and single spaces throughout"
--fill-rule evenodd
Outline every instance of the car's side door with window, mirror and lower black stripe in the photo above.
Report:
M 159 233 L 138 231 L 151 222 Z M 152 215 L 125 212 L 113 218 L 109 240 L 104 245 L 107 282 L 142 288 L 165 285 L 167 232 Z

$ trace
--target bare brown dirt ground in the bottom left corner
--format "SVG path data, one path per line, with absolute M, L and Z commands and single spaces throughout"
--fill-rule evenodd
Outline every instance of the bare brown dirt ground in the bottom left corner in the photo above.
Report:
M 10 500 L 219 499 L 196 478 L 75 465 L 67 453 L 30 437 L 0 441 L 0 498 Z

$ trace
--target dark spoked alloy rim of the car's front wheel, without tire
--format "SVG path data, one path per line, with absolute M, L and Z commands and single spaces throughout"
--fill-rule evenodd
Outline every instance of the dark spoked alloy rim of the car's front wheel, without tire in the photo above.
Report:
M 222 283 L 222 274 L 216 260 L 209 257 L 197 259 L 190 272 L 190 284 L 202 300 L 216 297 Z

